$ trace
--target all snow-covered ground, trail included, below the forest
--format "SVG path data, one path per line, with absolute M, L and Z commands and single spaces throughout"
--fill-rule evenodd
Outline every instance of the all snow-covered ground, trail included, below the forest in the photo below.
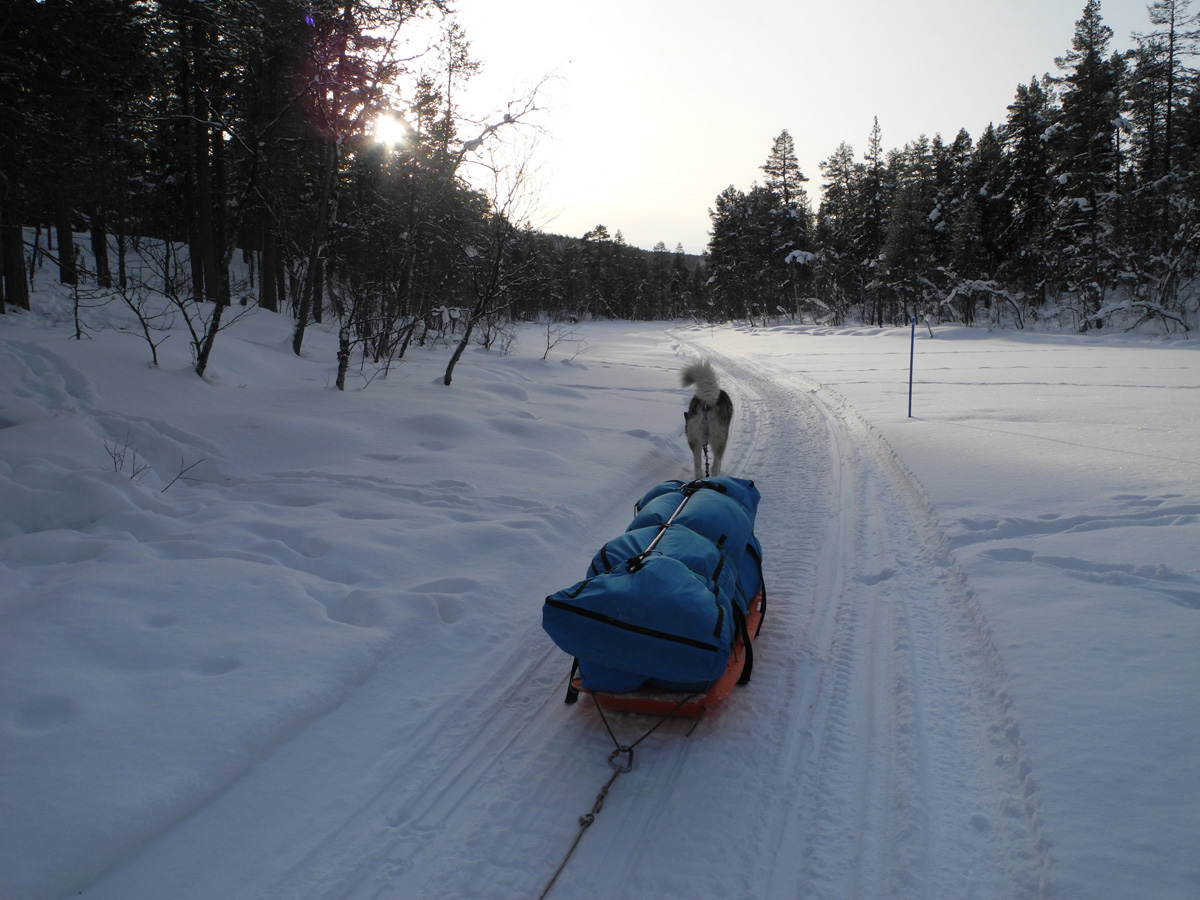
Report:
M 538 896 L 612 745 L 541 602 L 688 476 L 700 355 L 763 497 L 755 678 L 638 746 L 550 896 L 1200 890 L 1200 342 L 918 332 L 908 418 L 902 329 L 529 329 L 343 394 L 270 313 L 200 380 L 35 302 L 0 318 L 0 898 Z

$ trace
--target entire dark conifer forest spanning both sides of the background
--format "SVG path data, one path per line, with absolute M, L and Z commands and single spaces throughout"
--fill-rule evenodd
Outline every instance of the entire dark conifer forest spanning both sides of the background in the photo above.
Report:
M 1124 50 L 1087 0 L 1003 122 L 884 150 L 876 121 L 862 157 L 821 163 L 815 204 L 790 132 L 764 139 L 761 184 L 714 198 L 702 257 L 534 226 L 505 151 L 552 115 L 535 88 L 468 116 L 480 61 L 448 0 L 6 6 L 0 313 L 55 278 L 79 310 L 127 305 L 151 349 L 181 316 L 200 374 L 245 307 L 290 317 L 296 353 L 336 328 L 343 374 L 431 331 L 457 361 L 534 320 L 1196 323 L 1190 0 L 1150 4 Z

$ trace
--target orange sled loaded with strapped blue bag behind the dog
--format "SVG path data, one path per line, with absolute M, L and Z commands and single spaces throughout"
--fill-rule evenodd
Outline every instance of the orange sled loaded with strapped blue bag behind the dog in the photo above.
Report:
M 697 716 L 750 680 L 766 612 L 752 481 L 665 481 L 636 504 L 588 577 L 551 594 L 542 628 L 606 709 Z

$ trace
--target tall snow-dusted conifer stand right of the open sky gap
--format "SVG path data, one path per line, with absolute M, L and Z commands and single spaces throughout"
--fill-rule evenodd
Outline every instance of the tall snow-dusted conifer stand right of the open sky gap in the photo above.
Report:
M 1110 53 L 1088 0 L 1058 74 L 1019 85 L 1003 125 L 886 152 L 876 120 L 862 160 L 842 144 L 821 164 L 815 215 L 785 131 L 763 185 L 716 198 L 714 308 L 880 325 L 1056 313 L 1087 328 L 1122 304 L 1133 322 L 1194 324 L 1200 23 L 1188 6 L 1157 0 L 1135 48 Z

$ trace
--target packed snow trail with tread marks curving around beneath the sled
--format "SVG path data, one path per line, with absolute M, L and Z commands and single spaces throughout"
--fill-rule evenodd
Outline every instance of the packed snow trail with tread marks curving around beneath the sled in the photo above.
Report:
M 726 474 L 762 490 L 754 680 L 690 737 L 672 721 L 637 746 L 548 896 L 1052 896 L 1004 673 L 919 485 L 828 389 L 678 341 L 733 395 Z M 536 898 L 611 776 L 612 740 L 586 698 L 563 704 L 566 660 L 536 625 L 514 643 L 497 679 L 451 678 L 403 713 L 392 700 L 390 722 L 370 716 L 410 674 L 382 665 L 308 739 L 155 841 L 146 856 L 174 881 L 160 895 L 208 896 L 198 860 L 222 858 L 220 883 L 262 900 Z M 629 743 L 654 721 L 611 724 Z M 313 810 L 288 792 L 322 770 L 328 728 L 359 728 L 342 742 L 358 774 Z M 196 844 L 246 809 L 264 810 L 254 847 Z M 300 821 L 313 815 L 324 828 Z M 136 900 L 138 862 L 82 895 Z

